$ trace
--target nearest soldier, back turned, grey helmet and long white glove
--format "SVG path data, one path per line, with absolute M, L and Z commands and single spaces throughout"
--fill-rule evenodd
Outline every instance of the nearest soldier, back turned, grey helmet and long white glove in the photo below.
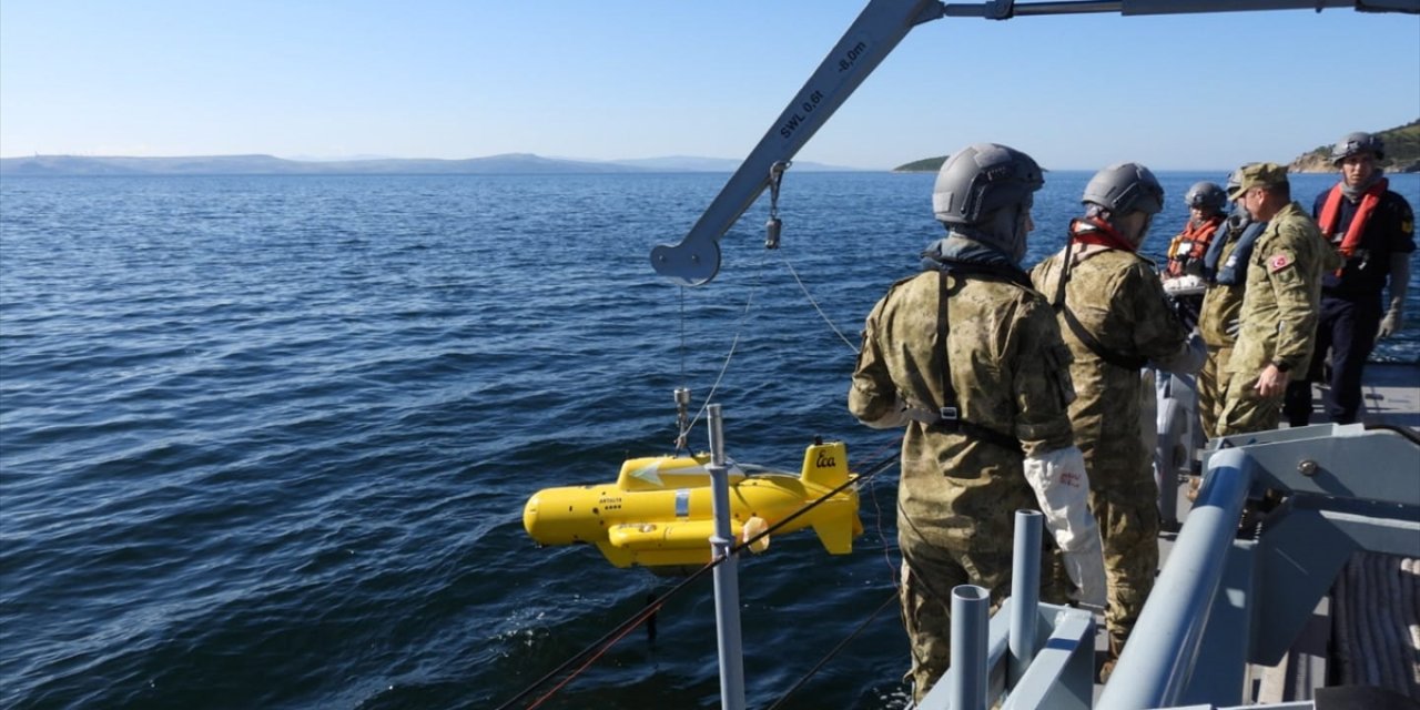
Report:
M 1010 592 L 1015 510 L 1045 513 L 1076 598 L 1103 602 L 1099 531 L 1066 416 L 1069 351 L 1020 267 L 1041 185 L 1035 160 L 1001 145 L 943 163 L 932 203 L 947 236 L 868 315 L 848 390 L 868 426 L 907 427 L 897 542 L 917 700 L 950 665 L 953 586 L 984 586 L 993 605 Z

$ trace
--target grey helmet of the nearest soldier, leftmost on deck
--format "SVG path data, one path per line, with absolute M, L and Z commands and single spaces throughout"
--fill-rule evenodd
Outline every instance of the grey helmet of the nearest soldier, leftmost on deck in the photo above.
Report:
M 946 224 L 976 226 L 1003 207 L 1025 203 L 1045 185 L 1031 156 L 1004 145 L 976 143 L 941 163 L 932 210 Z

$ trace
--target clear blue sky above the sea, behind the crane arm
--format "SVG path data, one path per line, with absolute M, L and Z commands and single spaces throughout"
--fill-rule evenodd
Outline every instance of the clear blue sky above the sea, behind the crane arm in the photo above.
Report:
M 861 0 L 0 0 L 0 155 L 743 158 Z M 1420 118 L 1420 17 L 944 18 L 799 153 L 1285 162 Z

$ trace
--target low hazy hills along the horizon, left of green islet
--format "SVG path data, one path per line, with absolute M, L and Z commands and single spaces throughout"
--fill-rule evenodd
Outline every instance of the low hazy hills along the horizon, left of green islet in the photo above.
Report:
M 0 158 L 6 176 L 87 175 L 551 175 L 733 172 L 740 160 L 728 158 L 642 158 L 626 160 L 568 160 L 532 153 L 506 153 L 462 160 L 373 158 L 356 160 L 288 160 L 271 155 L 209 155 L 186 158 L 124 158 L 36 155 Z M 814 162 L 795 162 L 795 170 L 846 172 Z

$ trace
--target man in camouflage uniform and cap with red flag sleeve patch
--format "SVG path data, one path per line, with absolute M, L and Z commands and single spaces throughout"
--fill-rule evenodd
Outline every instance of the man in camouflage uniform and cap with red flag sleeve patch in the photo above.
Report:
M 1312 352 L 1321 273 L 1328 261 L 1321 230 L 1292 202 L 1287 169 L 1244 166 L 1230 197 L 1267 229 L 1247 263 L 1237 342 L 1228 356 L 1218 435 L 1277 429 L 1289 378 L 1301 378 Z

